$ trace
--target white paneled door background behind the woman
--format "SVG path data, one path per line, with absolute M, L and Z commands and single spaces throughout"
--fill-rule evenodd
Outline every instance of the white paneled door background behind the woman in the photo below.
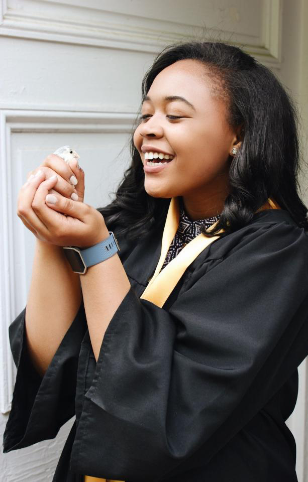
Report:
M 16 215 L 27 172 L 57 147 L 70 144 L 85 171 L 85 202 L 106 204 L 129 164 L 127 141 L 145 71 L 164 45 L 202 38 L 203 27 L 218 40 L 238 42 L 272 68 L 299 102 L 306 130 L 308 7 L 305 0 L 2 0 L 1 6 L 2 439 L 16 374 L 8 326 L 26 305 L 35 240 Z M 302 186 L 307 186 L 304 177 Z M 306 194 L 303 199 L 308 204 Z M 288 420 L 297 442 L 299 482 L 308 482 L 305 365 L 306 360 L 299 370 L 296 409 Z M 71 424 L 54 440 L 2 453 L 0 480 L 51 481 Z

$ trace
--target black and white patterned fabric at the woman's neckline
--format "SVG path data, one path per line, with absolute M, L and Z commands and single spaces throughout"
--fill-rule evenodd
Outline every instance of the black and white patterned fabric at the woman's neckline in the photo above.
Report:
M 195 238 L 198 234 L 200 234 L 200 228 L 202 222 L 208 228 L 214 222 L 218 221 L 220 215 L 207 217 L 206 219 L 197 219 L 193 221 L 190 219 L 189 215 L 186 213 L 184 208 L 183 199 L 179 197 L 179 208 L 180 208 L 180 219 L 177 231 L 174 235 L 171 245 L 169 246 L 168 253 L 166 255 L 165 261 L 161 267 L 163 270 L 168 263 L 170 263 L 173 258 L 175 258 L 179 252 L 187 245 L 193 238 Z M 161 271 L 160 270 L 160 271 Z

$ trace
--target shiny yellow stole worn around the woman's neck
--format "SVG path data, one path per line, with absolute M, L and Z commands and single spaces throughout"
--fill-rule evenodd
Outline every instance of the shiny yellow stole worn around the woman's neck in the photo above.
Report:
M 264 209 L 281 209 L 279 204 L 272 198 L 268 198 L 258 211 Z M 170 293 L 175 288 L 177 282 L 180 280 L 186 268 L 195 260 L 195 258 L 207 248 L 215 239 L 220 237 L 220 233 L 224 232 L 221 229 L 217 235 L 208 237 L 206 234 L 200 232 L 194 239 L 192 239 L 179 254 L 167 264 L 167 266 L 160 273 L 161 267 L 166 259 L 170 244 L 174 238 L 179 224 L 179 202 L 177 197 L 172 197 L 166 217 L 164 231 L 162 235 L 161 254 L 156 266 L 154 275 L 149 280 L 149 283 L 140 296 L 141 299 L 151 301 L 160 308 L 164 305 Z M 218 221 L 211 225 L 213 229 Z M 111 478 L 84 476 L 84 482 L 125 482 L 125 480 L 115 480 Z

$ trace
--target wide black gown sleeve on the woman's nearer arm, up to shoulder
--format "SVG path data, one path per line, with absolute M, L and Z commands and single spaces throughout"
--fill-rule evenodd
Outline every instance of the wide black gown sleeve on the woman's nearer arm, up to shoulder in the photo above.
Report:
M 195 269 L 169 311 L 131 286 L 85 393 L 70 460 L 77 472 L 176 480 L 206 464 L 307 355 L 303 228 L 252 227 L 209 266 Z

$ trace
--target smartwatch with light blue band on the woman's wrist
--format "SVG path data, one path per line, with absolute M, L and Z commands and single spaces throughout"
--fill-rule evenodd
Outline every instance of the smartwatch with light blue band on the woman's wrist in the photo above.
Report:
M 90 266 L 114 256 L 120 247 L 113 231 L 108 231 L 110 236 L 97 245 L 81 249 L 77 246 L 63 246 L 64 254 L 74 273 L 85 275 Z

